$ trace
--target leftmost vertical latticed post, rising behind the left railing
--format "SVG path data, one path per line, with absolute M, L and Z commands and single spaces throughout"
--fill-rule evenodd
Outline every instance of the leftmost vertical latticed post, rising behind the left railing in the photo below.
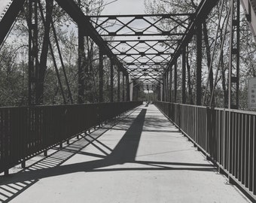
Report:
M 36 105 L 38 86 L 38 1 L 29 0 L 29 105 Z

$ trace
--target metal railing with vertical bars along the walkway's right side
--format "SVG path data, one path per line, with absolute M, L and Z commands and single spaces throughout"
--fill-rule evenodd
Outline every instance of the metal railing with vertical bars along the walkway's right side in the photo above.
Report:
M 256 113 L 169 102 L 154 103 L 215 162 L 249 198 L 256 200 Z

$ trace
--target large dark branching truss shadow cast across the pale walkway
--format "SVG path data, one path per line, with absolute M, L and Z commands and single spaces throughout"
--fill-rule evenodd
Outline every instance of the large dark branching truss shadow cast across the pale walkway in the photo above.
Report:
M 53 153 L 51 156 L 43 159 L 40 162 L 36 162 L 35 165 L 30 166 L 28 169 L 21 171 L 17 174 L 11 175 L 11 177 L 1 177 L 0 183 L 0 195 L 7 198 L 5 201 L 8 202 L 29 186 L 36 183 L 38 180 L 44 177 L 53 177 L 59 176 L 62 174 L 72 174 L 79 171 L 86 172 L 102 172 L 102 171 L 166 171 L 166 170 L 191 170 L 191 171 L 216 171 L 214 165 L 209 164 L 197 164 L 197 163 L 184 163 L 184 162 L 147 162 L 147 161 L 136 161 L 136 153 L 139 147 L 139 141 L 141 139 L 143 126 L 145 123 L 145 115 L 147 110 L 142 108 L 139 115 L 133 120 L 130 128 L 126 131 L 123 138 L 120 139 L 114 150 L 111 150 L 110 147 L 106 146 L 102 142 L 98 141 L 101 135 L 85 135 L 81 139 L 84 139 L 86 142 L 83 145 L 80 144 L 81 140 L 74 141 L 69 146 L 63 148 L 59 153 Z M 117 123 L 116 123 L 117 124 Z M 112 126 L 113 127 L 113 126 Z M 104 129 L 106 132 L 108 129 Z M 104 133 L 103 132 L 103 133 Z M 157 132 L 157 131 L 156 131 Z M 169 132 L 169 131 L 167 131 Z M 102 151 L 104 155 L 82 152 L 88 144 L 93 144 L 93 142 L 98 142 L 102 148 L 107 148 L 111 151 L 110 154 L 102 150 L 96 144 L 94 147 L 97 147 L 98 150 Z M 76 153 L 83 154 L 86 156 L 95 156 L 101 158 L 98 160 L 93 160 L 90 162 L 80 162 L 70 165 L 62 165 L 63 162 L 66 162 L 67 159 L 70 159 Z M 127 162 L 133 162 L 142 165 L 138 168 L 120 168 L 118 165 L 124 164 Z M 117 165 L 116 168 L 105 168 L 108 166 Z M 172 167 L 175 165 L 175 167 Z M 180 165 L 181 167 L 177 167 Z M 19 189 L 20 188 L 20 189 Z M 6 195 L 10 193 L 9 195 Z M 1 201 L 1 199 L 0 199 Z

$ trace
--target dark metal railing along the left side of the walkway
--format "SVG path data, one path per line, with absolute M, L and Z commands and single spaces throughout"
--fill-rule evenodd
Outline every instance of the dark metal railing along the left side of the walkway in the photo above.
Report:
M 142 102 L 0 108 L 0 172 Z

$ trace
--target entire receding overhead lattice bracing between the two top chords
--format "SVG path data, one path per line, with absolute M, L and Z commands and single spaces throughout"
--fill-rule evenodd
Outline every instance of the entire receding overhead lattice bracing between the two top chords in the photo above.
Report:
M 193 16 L 90 16 L 90 22 L 132 77 L 161 80 Z M 163 26 L 163 23 L 168 26 Z

